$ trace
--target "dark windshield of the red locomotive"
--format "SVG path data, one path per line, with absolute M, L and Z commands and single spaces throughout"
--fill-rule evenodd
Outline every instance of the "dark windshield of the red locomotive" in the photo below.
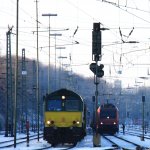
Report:
M 116 118 L 116 110 L 114 109 L 101 109 L 100 118 L 113 119 Z

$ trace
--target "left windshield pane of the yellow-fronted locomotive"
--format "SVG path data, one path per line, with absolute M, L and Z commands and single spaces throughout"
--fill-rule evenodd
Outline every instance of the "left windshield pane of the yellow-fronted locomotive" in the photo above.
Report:
M 62 101 L 61 100 L 48 100 L 46 110 L 47 111 L 61 111 Z

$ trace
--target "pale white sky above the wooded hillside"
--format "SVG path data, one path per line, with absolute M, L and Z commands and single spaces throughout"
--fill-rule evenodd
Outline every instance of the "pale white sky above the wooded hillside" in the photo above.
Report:
M 102 60 L 104 79 L 108 82 L 122 80 L 134 86 L 141 78 L 149 78 L 149 0 L 39 0 L 39 55 L 40 61 L 48 64 L 49 18 L 42 14 L 57 14 L 51 17 L 51 64 L 59 66 L 58 57 L 65 69 L 86 77 L 93 76 L 89 69 L 92 63 L 92 29 L 100 22 L 102 31 Z M 16 0 L 5 0 L 0 5 L 0 55 L 6 54 L 6 32 L 13 26 L 12 53 L 15 54 Z M 68 29 L 68 30 L 66 30 Z M 76 32 L 75 32 L 76 31 Z M 77 44 L 78 43 L 78 44 Z M 65 47 L 65 49 L 56 49 Z M 36 3 L 35 0 L 19 0 L 19 55 L 26 49 L 26 57 L 36 59 Z M 148 80 L 142 80 L 148 86 Z

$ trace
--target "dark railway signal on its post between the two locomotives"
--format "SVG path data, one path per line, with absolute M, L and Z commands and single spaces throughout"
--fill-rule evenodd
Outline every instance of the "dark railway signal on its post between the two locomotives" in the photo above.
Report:
M 98 61 L 101 60 L 101 28 L 100 23 L 93 23 L 92 31 L 92 61 L 94 63 L 90 64 L 90 70 L 94 73 L 94 84 L 95 84 L 95 114 L 93 118 L 93 146 L 99 147 L 101 145 L 101 137 L 98 133 L 98 78 L 104 76 L 104 65 L 98 65 Z M 93 110 L 94 111 L 94 110 Z

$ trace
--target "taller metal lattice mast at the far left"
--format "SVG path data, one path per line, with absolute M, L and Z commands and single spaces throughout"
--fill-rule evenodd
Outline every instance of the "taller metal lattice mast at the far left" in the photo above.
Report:
M 12 60 L 11 60 L 11 33 L 12 28 L 6 33 L 6 78 L 7 78 L 7 105 L 5 136 L 13 136 L 13 96 L 12 96 Z

